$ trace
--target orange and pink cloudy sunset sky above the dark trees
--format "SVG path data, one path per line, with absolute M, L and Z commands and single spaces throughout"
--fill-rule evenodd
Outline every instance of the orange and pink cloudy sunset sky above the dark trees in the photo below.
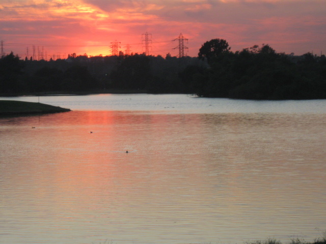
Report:
M 68 53 L 111 55 L 121 51 L 178 54 L 182 33 L 189 56 L 214 38 L 232 51 L 269 44 L 296 55 L 326 53 L 326 0 L 0 0 L 0 40 L 4 52 L 29 56 L 43 50 L 47 58 Z

